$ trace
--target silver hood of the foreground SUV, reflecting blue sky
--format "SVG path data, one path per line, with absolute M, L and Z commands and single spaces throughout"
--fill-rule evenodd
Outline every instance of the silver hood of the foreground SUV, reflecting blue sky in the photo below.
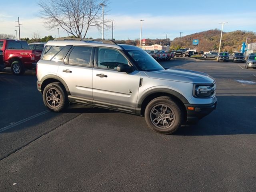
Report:
M 206 73 L 182 69 L 168 69 L 151 72 L 145 71 L 145 74 L 149 78 L 179 81 L 186 83 L 211 84 L 215 82 L 214 78 L 212 78 Z

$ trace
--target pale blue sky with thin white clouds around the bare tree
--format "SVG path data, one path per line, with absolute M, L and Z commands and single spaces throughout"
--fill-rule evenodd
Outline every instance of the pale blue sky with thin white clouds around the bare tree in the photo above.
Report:
M 37 0 L 0 0 L 0 34 L 16 35 L 15 26 L 20 17 L 21 38 L 32 38 L 34 32 L 41 37 L 58 37 L 58 29 L 44 28 L 38 18 L 40 10 Z M 199 3 L 200 2 L 200 3 Z M 140 38 L 140 19 L 143 19 L 142 38 L 168 38 L 182 36 L 210 29 L 224 32 L 246 30 L 256 32 L 256 0 L 110 0 L 106 19 L 114 20 L 114 38 L 127 40 Z M 11 10 L 11 11 L 10 11 Z M 68 36 L 60 30 L 60 36 Z M 95 28 L 89 28 L 87 38 L 101 38 Z M 104 31 L 104 38 L 112 38 L 112 31 Z

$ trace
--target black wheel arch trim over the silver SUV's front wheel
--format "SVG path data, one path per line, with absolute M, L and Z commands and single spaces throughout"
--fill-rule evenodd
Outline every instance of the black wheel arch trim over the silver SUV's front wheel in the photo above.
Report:
M 186 120 L 187 113 L 186 113 L 186 107 L 184 104 L 189 104 L 188 100 L 179 92 L 176 92 L 174 90 L 169 90 L 166 88 L 157 88 L 157 89 L 151 90 L 140 98 L 137 105 L 138 108 L 141 108 L 140 115 L 144 116 L 145 109 L 148 103 L 154 98 L 157 98 L 160 96 L 169 96 L 170 98 L 172 98 L 172 100 L 177 102 L 182 107 L 181 110 L 184 114 L 184 120 Z

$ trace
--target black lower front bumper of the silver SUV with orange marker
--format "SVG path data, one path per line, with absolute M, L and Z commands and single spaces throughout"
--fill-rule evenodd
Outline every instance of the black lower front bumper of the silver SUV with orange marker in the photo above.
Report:
M 187 111 L 187 122 L 197 122 L 204 116 L 210 114 L 217 106 L 217 99 L 211 104 L 195 105 L 195 104 L 185 104 Z M 189 110 L 188 108 L 193 108 Z

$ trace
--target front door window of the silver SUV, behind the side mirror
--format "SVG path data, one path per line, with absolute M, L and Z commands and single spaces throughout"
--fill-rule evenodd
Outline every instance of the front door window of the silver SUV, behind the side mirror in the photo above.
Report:
M 99 68 L 116 69 L 120 63 L 128 64 L 128 60 L 117 50 L 107 48 L 98 49 Z

